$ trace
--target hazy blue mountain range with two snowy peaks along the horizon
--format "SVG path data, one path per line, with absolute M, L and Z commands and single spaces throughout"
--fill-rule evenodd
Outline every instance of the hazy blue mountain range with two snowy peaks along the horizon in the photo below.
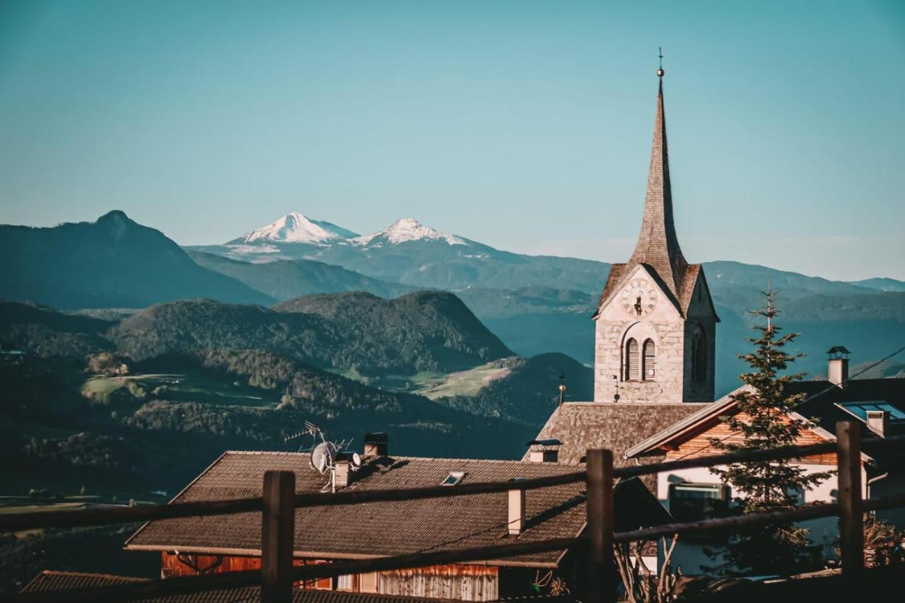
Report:
M 454 292 L 515 353 L 565 353 L 590 363 L 589 320 L 610 265 L 500 251 L 413 219 L 369 235 L 298 212 L 221 245 L 186 247 L 121 212 L 51 229 L 3 226 L 0 296 L 61 309 L 141 308 L 206 297 L 271 305 L 313 293 L 394 298 Z M 45 244 L 52 241 L 53 244 Z M 801 366 L 824 369 L 842 343 L 857 361 L 880 358 L 905 335 L 905 282 L 836 282 L 766 266 L 705 263 L 719 325 L 718 391 L 732 388 L 747 349 L 748 311 L 772 282 L 786 329 L 801 330 Z M 358 302 L 364 302 L 363 299 Z M 367 305 L 367 304 L 366 304 Z M 349 310 L 353 311 L 353 310 Z

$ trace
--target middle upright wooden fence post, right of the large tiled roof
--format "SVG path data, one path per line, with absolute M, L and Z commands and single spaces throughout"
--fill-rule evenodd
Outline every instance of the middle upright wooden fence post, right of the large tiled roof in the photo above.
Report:
M 588 603 L 615 599 L 613 569 L 613 452 L 587 451 Z

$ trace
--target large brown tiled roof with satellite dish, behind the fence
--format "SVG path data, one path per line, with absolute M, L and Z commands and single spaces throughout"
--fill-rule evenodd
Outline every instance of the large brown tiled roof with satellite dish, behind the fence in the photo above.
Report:
M 227 452 L 174 502 L 261 496 L 263 474 L 268 470 L 295 472 L 297 493 L 319 492 L 327 482 L 325 475 L 310 468 L 307 454 Z M 576 467 L 551 463 L 380 456 L 365 460 L 348 489 L 435 486 L 452 471 L 465 473 L 462 483 L 481 483 L 575 470 Z M 584 483 L 570 483 L 529 490 L 528 526 L 518 537 L 507 534 L 507 493 L 300 508 L 296 512 L 294 550 L 301 557 L 348 559 L 466 549 L 502 544 L 514 538 L 523 542 L 571 538 L 579 534 L 585 523 L 584 488 Z M 149 522 L 126 546 L 141 550 L 260 554 L 261 513 Z M 494 564 L 550 567 L 556 565 L 560 554 L 561 551 L 552 551 L 522 555 Z

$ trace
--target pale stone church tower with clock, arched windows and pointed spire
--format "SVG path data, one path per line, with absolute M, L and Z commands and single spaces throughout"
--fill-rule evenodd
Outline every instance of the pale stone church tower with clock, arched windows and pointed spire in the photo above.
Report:
M 614 263 L 594 314 L 595 402 L 710 402 L 719 318 L 700 264 L 681 253 L 663 112 L 663 70 L 651 168 L 632 257 Z

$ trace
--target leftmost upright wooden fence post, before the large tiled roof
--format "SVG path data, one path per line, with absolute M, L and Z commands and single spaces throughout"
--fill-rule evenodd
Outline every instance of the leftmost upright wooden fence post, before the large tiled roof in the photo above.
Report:
M 264 474 L 261 523 L 262 603 L 292 600 L 292 548 L 295 541 L 295 474 Z

